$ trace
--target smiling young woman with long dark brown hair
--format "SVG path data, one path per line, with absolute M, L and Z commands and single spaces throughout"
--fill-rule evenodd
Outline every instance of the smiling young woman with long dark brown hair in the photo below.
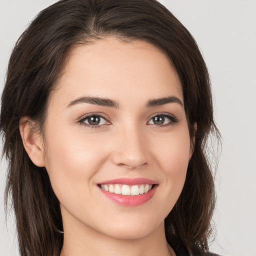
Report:
M 157 1 L 41 11 L 11 54 L 0 128 L 22 256 L 209 255 L 209 77 Z

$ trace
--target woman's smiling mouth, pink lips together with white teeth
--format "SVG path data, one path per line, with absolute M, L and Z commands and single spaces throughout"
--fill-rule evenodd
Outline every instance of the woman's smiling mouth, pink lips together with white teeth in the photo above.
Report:
M 115 203 L 137 206 L 151 199 L 158 183 L 146 178 L 118 178 L 98 183 L 97 186 Z

